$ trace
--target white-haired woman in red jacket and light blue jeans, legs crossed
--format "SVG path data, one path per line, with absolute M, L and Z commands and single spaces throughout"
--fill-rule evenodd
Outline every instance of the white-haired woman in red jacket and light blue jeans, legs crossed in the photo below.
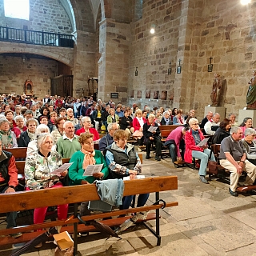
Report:
M 201 182 L 209 184 L 206 180 L 206 168 L 209 158 L 211 161 L 215 161 L 214 154 L 211 154 L 210 156 L 210 150 L 206 145 L 197 146 L 204 139 L 202 131 L 199 128 L 198 119 L 190 118 L 189 125 L 190 130 L 188 130 L 185 135 L 185 162 L 192 163 L 192 157 L 201 159 L 198 173 L 199 178 Z

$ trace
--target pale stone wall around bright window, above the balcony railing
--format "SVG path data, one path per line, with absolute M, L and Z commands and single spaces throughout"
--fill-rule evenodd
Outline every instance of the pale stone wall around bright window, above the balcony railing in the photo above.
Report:
M 58 0 L 30 0 L 30 20 L 5 17 L 3 0 L 0 0 L 0 26 L 70 34 L 72 26 L 66 11 Z

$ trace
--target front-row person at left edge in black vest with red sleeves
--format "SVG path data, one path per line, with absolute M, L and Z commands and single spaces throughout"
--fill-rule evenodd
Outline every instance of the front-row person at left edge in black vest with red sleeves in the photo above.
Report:
M 0 193 L 15 193 L 18 186 L 18 170 L 15 166 L 14 156 L 7 151 L 2 150 L 2 141 L 0 140 Z M 6 173 L 4 174 L 4 170 Z M 16 225 L 17 212 L 13 211 L 6 214 L 6 229 Z M 10 234 L 12 238 L 18 238 L 22 233 Z

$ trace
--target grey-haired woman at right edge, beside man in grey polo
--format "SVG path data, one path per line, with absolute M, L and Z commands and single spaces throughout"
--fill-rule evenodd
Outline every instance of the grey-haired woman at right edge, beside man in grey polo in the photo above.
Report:
M 246 158 L 249 162 L 256 165 L 256 132 L 253 128 L 245 130 L 245 138 L 242 138 L 242 145 L 246 150 Z

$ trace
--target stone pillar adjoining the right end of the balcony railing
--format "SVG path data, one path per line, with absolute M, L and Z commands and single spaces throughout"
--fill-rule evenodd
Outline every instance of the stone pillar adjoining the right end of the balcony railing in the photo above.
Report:
M 73 78 L 73 95 L 78 98 L 89 93 L 88 77 L 95 77 L 95 34 L 77 30 L 74 33 L 76 44 L 74 46 L 74 69 L 72 70 Z M 89 95 L 88 95 L 89 96 Z

